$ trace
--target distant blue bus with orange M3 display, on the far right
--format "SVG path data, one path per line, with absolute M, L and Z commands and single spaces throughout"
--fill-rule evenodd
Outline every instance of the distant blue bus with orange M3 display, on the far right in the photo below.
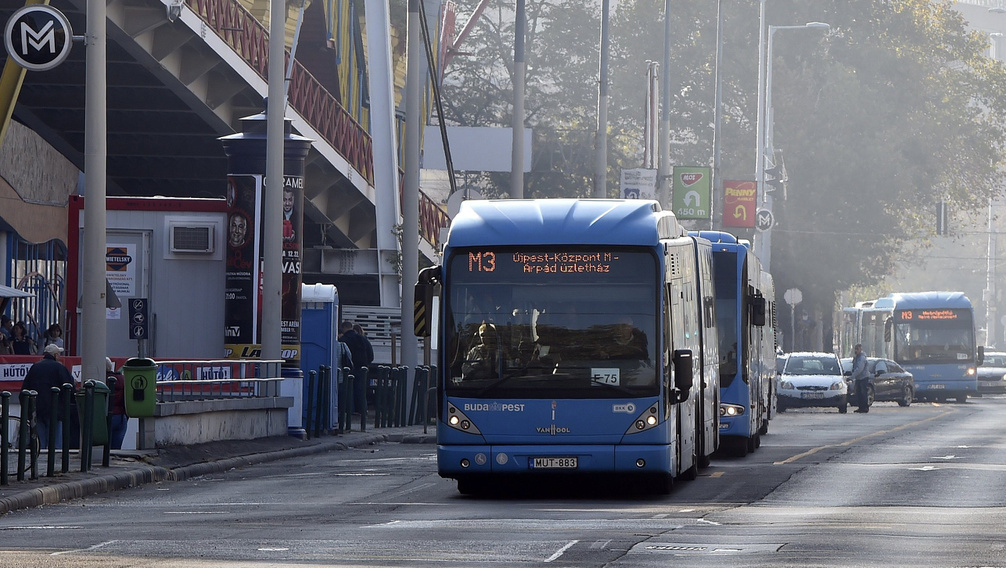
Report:
M 859 321 L 852 341 L 867 355 L 893 359 L 912 374 L 915 398 L 964 402 L 978 394 L 976 367 L 984 353 L 963 293 L 892 294 L 845 313 Z

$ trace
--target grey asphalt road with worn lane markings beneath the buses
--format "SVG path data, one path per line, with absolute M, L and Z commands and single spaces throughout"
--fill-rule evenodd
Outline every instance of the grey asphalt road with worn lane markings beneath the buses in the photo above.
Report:
M 0 517 L 0 565 L 1006 566 L 1006 398 L 791 410 L 669 496 L 459 495 L 384 443 Z

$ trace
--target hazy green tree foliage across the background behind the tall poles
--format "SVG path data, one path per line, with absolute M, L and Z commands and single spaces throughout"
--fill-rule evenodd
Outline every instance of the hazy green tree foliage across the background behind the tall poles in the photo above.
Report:
M 467 19 L 477 0 L 461 0 Z M 506 4 L 505 6 L 503 4 Z M 645 69 L 664 51 L 664 0 L 621 0 L 611 20 L 609 183 L 638 167 Z M 529 197 L 591 193 L 598 96 L 600 1 L 528 0 Z M 513 13 L 492 3 L 447 69 L 449 120 L 511 124 Z M 716 2 L 671 3 L 672 164 L 711 165 Z M 722 0 L 720 179 L 753 179 L 758 1 Z M 907 244 L 935 231 L 936 204 L 976 211 L 1002 187 L 1006 69 L 988 37 L 935 0 L 770 0 L 773 25 L 823 21 L 831 31 L 775 36 L 774 146 L 790 177 L 775 195 L 777 290 L 829 312 L 837 291 L 890 273 Z M 661 73 L 662 75 L 662 73 Z M 508 174 L 484 174 L 503 195 Z M 777 192 L 778 193 L 778 192 Z M 785 199 L 784 199 L 785 197 Z M 744 238 L 757 235 L 737 231 Z

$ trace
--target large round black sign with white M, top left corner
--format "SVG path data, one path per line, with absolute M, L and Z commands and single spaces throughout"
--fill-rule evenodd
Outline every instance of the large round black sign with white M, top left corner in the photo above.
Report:
M 73 30 L 62 12 L 45 4 L 15 11 L 4 29 L 4 47 L 14 61 L 32 71 L 62 63 L 73 43 Z

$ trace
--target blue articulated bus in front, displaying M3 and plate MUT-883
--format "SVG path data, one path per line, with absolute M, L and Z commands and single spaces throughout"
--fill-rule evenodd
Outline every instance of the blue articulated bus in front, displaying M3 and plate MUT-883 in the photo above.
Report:
M 655 201 L 464 202 L 443 265 L 416 285 L 417 309 L 441 300 L 440 475 L 461 493 L 601 474 L 666 492 L 693 478 L 717 439 L 700 244 Z

